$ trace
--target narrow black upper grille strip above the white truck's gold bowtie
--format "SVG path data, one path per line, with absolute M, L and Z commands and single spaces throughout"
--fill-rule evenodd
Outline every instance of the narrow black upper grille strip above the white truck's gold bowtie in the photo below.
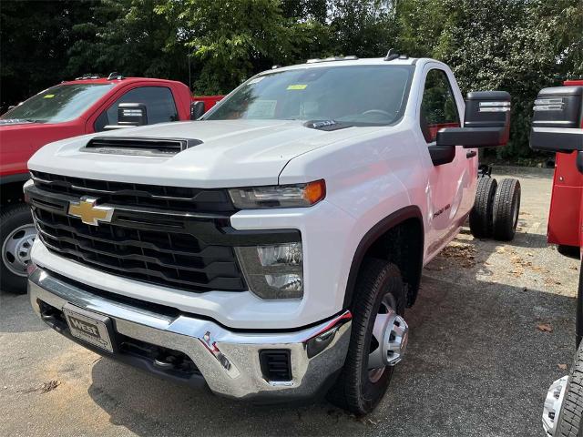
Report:
M 225 189 L 165 187 L 113 182 L 32 171 L 35 186 L 48 193 L 93 196 L 100 203 L 127 207 L 162 208 L 175 211 L 234 212 Z

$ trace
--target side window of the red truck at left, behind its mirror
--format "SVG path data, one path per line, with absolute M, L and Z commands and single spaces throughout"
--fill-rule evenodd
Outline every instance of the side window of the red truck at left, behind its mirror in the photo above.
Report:
M 95 122 L 96 132 L 107 125 L 118 124 L 118 106 L 120 103 L 143 103 L 148 111 L 148 125 L 177 121 L 178 111 L 172 97 L 172 91 L 165 86 L 140 86 L 129 90 L 116 102 L 101 113 Z

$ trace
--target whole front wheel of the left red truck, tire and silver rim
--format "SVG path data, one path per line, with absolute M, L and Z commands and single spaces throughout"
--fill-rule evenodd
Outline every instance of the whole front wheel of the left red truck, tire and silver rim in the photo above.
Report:
M 26 268 L 35 238 L 36 229 L 27 205 L 3 208 L 0 215 L 0 286 L 3 291 L 26 293 Z

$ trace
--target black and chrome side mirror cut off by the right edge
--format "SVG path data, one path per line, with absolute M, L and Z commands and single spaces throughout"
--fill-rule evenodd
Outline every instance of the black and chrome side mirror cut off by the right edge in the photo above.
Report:
M 530 148 L 583 151 L 583 86 L 543 88 L 533 109 Z

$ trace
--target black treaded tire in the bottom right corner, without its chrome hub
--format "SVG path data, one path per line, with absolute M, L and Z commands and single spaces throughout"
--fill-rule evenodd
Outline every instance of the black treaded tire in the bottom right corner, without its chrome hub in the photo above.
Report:
M 579 347 L 567 381 L 567 390 L 558 413 L 556 437 L 583 436 L 583 347 Z

